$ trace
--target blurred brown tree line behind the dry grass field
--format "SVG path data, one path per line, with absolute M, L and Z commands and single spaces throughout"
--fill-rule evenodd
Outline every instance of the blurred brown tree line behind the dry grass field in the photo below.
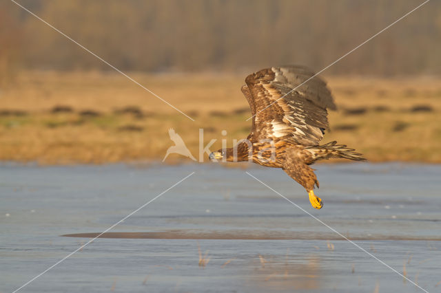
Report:
M 110 69 L 10 1 L 0 5 L 0 74 Z M 123 70 L 322 69 L 418 6 L 417 0 L 21 0 Z M 440 74 L 441 2 L 430 1 L 329 69 Z

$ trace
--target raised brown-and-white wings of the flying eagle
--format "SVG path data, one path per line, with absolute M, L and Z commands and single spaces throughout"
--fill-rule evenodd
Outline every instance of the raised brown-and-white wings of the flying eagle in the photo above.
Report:
M 318 144 L 323 138 L 322 130 L 329 126 L 327 109 L 336 109 L 336 105 L 326 83 L 318 76 L 311 76 L 314 72 L 305 67 L 285 66 L 262 69 L 245 78 L 247 86 L 242 91 L 252 114 L 256 115 L 254 140 Z

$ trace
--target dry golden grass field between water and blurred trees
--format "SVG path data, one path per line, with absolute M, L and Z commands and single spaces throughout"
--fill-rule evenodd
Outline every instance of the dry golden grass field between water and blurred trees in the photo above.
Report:
M 250 111 L 240 92 L 246 74 L 130 75 L 195 122 L 118 74 L 24 72 L 0 91 L 0 160 L 162 160 L 173 144 L 170 128 L 198 158 L 198 129 L 204 129 L 205 144 L 217 139 L 212 150 L 221 139 L 231 145 L 249 132 Z M 325 79 L 339 107 L 330 113 L 325 142 L 338 140 L 373 162 L 441 162 L 439 79 Z M 165 162 L 182 159 L 170 155 Z

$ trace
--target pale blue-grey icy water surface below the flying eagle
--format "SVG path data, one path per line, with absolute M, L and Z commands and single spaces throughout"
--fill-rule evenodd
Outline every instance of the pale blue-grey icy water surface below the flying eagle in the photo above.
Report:
M 17 290 L 192 172 L 19 292 L 424 292 L 320 221 L 441 292 L 440 165 L 315 168 L 322 210 L 285 172 L 256 165 L 3 164 L 0 292 Z

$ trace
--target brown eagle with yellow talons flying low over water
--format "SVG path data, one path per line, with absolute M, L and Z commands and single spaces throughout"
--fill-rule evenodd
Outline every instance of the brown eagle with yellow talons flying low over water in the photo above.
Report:
M 366 160 L 336 141 L 319 144 L 329 128 L 327 109 L 336 110 L 336 104 L 325 81 L 306 67 L 262 69 L 245 78 L 241 91 L 252 111 L 251 133 L 233 148 L 210 153 L 210 160 L 281 168 L 306 189 L 317 209 L 323 204 L 314 194 L 319 184 L 310 165 L 330 158 Z

